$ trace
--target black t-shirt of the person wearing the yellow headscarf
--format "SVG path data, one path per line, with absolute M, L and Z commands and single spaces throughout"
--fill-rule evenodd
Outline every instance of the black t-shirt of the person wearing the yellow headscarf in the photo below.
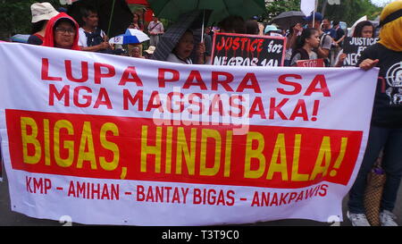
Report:
M 402 128 L 402 52 L 392 51 L 380 43 L 364 49 L 357 63 L 379 59 L 380 68 L 375 92 L 372 125 Z

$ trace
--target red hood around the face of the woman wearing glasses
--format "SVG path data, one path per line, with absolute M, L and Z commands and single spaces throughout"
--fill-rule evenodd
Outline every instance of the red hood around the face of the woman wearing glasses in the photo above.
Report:
M 78 45 L 80 26 L 77 23 L 77 21 L 74 21 L 74 19 L 72 19 L 72 17 L 70 15 L 68 15 L 67 13 L 59 13 L 47 22 L 46 31 L 45 31 L 45 39 L 43 41 L 42 46 L 54 47 L 54 31 L 53 31 L 53 29 L 54 29 L 55 23 L 57 21 L 60 21 L 61 19 L 69 19 L 74 23 L 75 37 L 74 37 L 74 42 L 72 43 L 71 49 L 72 50 L 80 50 L 80 46 Z

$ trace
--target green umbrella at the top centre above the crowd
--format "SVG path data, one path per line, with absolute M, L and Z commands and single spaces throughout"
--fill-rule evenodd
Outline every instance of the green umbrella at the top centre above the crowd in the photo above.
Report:
M 181 14 L 193 10 L 210 10 L 209 23 L 218 22 L 229 15 L 248 18 L 265 12 L 264 0 L 147 0 L 160 18 L 176 21 Z

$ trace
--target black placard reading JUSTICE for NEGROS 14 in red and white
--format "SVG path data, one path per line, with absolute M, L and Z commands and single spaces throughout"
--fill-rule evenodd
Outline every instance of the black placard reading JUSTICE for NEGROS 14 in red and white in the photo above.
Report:
M 286 38 L 215 33 L 212 64 L 228 66 L 283 66 Z

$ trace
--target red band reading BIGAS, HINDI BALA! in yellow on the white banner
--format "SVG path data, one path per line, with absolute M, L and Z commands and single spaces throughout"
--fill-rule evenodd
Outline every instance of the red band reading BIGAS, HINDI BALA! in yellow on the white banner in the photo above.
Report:
M 293 189 L 347 185 L 362 131 L 250 125 L 157 126 L 152 119 L 6 110 L 14 170 L 98 179 Z

